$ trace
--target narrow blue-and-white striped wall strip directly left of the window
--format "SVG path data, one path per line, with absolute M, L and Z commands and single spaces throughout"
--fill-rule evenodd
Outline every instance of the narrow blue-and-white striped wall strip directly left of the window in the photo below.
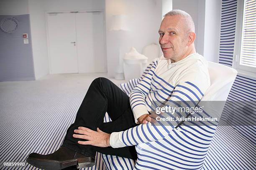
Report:
M 232 66 L 237 0 L 222 0 L 219 63 Z

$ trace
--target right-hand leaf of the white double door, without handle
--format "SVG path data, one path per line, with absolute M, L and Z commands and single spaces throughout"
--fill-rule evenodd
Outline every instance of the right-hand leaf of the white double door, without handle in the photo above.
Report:
M 106 72 L 102 12 L 76 13 L 78 72 Z

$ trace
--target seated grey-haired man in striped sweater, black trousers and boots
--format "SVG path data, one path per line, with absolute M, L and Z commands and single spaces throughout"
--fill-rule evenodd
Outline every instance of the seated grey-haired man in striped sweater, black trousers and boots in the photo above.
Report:
M 49 155 L 31 153 L 27 162 L 43 169 L 63 169 L 77 164 L 82 168 L 94 165 L 96 151 L 134 160 L 137 159 L 137 151 L 138 169 L 200 167 L 204 157 L 196 157 L 207 149 L 201 151 L 195 148 L 208 143 L 187 142 L 186 145 L 194 147 L 192 153 L 184 149 L 177 151 L 179 148 L 169 141 L 174 140 L 174 135 L 181 136 L 175 130 L 181 121 L 171 122 L 169 126 L 154 126 L 154 114 L 149 112 L 155 111 L 159 106 L 155 106 L 157 102 L 165 105 L 166 102 L 199 101 L 210 86 L 207 62 L 196 53 L 195 26 L 191 16 L 184 11 L 167 13 L 159 28 L 159 36 L 164 56 L 154 60 L 130 97 L 110 80 L 102 77 L 95 79 L 79 107 L 75 122 L 67 130 L 61 148 Z M 108 112 L 112 122 L 103 123 L 105 112 Z M 189 135 L 184 138 L 195 140 Z M 184 140 L 180 139 L 176 141 L 177 145 Z M 161 155 L 158 154 L 161 153 L 158 147 L 167 150 L 176 147 L 176 150 L 172 149 L 171 154 L 168 150 Z M 182 147 L 188 148 L 185 145 Z M 152 148 L 154 152 L 150 151 Z M 194 156 L 186 158 L 183 154 L 172 158 L 183 151 Z

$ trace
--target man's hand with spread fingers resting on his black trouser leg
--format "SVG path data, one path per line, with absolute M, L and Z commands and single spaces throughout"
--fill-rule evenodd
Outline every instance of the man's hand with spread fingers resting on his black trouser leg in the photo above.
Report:
M 99 147 L 108 147 L 110 134 L 102 132 L 99 128 L 97 131 L 90 130 L 89 128 L 78 127 L 78 129 L 74 130 L 74 133 L 78 133 L 81 135 L 74 134 L 74 138 L 86 139 L 88 141 L 78 141 L 81 145 L 93 145 Z

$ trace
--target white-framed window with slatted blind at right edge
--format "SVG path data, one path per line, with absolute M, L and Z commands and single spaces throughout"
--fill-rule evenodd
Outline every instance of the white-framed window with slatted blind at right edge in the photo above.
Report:
M 237 1 L 233 67 L 256 77 L 256 0 Z

